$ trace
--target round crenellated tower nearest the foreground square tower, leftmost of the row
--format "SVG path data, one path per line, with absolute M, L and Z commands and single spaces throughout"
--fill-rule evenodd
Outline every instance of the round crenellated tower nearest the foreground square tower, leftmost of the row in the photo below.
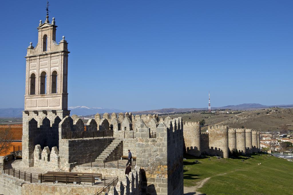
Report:
M 183 135 L 185 151 L 193 156 L 201 155 L 200 148 L 200 123 L 199 122 L 184 122 Z

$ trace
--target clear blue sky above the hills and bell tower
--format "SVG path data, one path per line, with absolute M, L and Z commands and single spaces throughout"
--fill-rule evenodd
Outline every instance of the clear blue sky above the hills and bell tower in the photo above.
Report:
M 46 1 L 2 1 L 0 108 L 23 107 Z M 292 104 L 293 1 L 50 1 L 68 106 L 150 110 Z

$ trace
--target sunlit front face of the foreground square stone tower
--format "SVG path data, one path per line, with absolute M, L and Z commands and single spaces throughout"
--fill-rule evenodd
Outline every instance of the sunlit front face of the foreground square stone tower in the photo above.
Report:
M 149 128 L 137 120 L 137 166 L 140 168 L 142 194 L 168 193 L 167 127 L 157 127 L 156 138 L 149 138 Z M 183 148 L 183 146 L 182 146 Z

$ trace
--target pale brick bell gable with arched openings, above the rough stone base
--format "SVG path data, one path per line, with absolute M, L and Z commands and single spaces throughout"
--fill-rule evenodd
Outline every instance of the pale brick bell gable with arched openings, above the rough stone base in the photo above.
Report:
M 56 42 L 55 18 L 38 26 L 38 44 L 27 48 L 25 111 L 67 110 L 67 42 Z

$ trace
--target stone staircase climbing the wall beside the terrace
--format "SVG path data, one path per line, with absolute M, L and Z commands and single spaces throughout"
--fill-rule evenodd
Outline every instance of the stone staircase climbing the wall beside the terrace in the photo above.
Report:
M 123 139 L 115 138 L 112 143 L 96 158 L 96 162 L 103 163 L 104 160 L 116 160 L 123 154 Z

